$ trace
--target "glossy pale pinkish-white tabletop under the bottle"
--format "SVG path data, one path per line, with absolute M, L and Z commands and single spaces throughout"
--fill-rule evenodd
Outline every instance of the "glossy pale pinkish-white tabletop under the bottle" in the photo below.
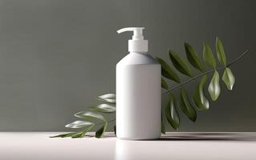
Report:
M 0 159 L 256 159 L 256 133 L 168 133 L 158 140 L 49 138 L 54 132 L 0 132 Z

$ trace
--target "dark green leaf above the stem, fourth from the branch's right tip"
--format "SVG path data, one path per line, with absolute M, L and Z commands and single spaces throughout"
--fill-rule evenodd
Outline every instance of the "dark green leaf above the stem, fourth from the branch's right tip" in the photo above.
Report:
M 186 62 L 183 61 L 178 54 L 176 54 L 173 50 L 169 50 L 169 57 L 173 62 L 173 66 L 175 66 L 177 70 L 179 70 L 182 74 L 193 77 L 192 70 L 190 70 Z

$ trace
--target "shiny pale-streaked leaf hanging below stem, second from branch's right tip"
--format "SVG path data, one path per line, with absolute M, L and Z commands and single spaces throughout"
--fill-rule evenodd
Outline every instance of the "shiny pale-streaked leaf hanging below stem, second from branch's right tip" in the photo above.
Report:
M 215 70 L 213 78 L 211 82 L 209 82 L 208 91 L 213 101 L 216 101 L 218 96 L 221 94 L 220 75 L 217 70 Z

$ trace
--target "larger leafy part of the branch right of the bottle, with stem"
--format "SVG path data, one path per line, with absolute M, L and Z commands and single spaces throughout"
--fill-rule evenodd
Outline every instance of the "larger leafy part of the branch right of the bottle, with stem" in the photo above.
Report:
M 173 127 L 173 129 L 178 130 L 180 126 L 180 118 L 177 112 L 177 106 L 181 109 L 181 111 L 193 122 L 197 120 L 197 110 L 209 110 L 209 100 L 205 94 L 205 85 L 208 80 L 208 75 L 213 72 L 213 77 L 211 78 L 208 86 L 209 96 L 213 101 L 216 101 L 219 95 L 221 94 L 221 86 L 220 86 L 220 75 L 218 70 L 224 69 L 224 73 L 222 74 L 222 81 L 226 84 L 228 90 L 232 90 L 235 82 L 234 74 L 230 70 L 229 66 L 237 62 L 239 58 L 242 58 L 248 51 L 246 50 L 242 53 L 238 58 L 236 58 L 233 62 L 227 65 L 226 62 L 226 54 L 222 42 L 219 38 L 216 38 L 216 52 L 218 62 L 222 65 L 217 67 L 217 62 L 214 58 L 213 51 L 208 44 L 203 44 L 203 62 L 205 65 L 210 66 L 212 69 L 205 71 L 205 67 L 201 58 L 199 58 L 197 51 L 193 49 L 188 43 L 185 43 L 185 53 L 189 63 L 197 70 L 201 72 L 201 74 L 194 76 L 189 68 L 189 65 L 185 60 L 181 59 L 173 50 L 169 50 L 169 58 L 173 62 L 173 66 L 181 72 L 181 74 L 185 74 L 190 77 L 185 82 L 180 82 L 180 78 L 177 76 L 175 70 L 171 68 L 164 60 L 161 58 L 157 58 L 158 62 L 161 63 L 161 70 L 164 78 L 172 80 L 174 82 L 179 83 L 177 86 L 169 89 L 168 84 L 165 82 L 165 79 L 162 78 L 162 88 L 166 91 L 163 94 L 169 94 L 168 103 L 164 106 L 165 110 L 162 115 L 165 115 L 169 124 Z M 172 76 L 170 76 L 172 74 Z M 201 78 L 202 77 L 202 78 Z M 197 82 L 195 89 L 193 90 L 193 94 L 191 98 L 189 94 L 185 90 L 183 86 L 186 83 L 196 80 L 197 78 L 201 78 L 200 82 Z M 173 90 L 181 87 L 180 94 L 178 95 L 178 99 L 173 95 Z M 164 118 L 162 118 L 162 126 L 165 126 Z M 165 133 L 165 130 L 162 130 L 162 133 Z

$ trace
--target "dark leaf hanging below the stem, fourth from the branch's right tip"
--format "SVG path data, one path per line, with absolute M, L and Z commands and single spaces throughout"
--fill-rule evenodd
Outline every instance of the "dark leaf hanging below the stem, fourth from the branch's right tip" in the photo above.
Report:
M 185 89 L 181 89 L 179 106 L 183 113 L 193 122 L 197 120 L 197 111 L 193 108 L 192 103 L 189 101 L 188 94 Z

